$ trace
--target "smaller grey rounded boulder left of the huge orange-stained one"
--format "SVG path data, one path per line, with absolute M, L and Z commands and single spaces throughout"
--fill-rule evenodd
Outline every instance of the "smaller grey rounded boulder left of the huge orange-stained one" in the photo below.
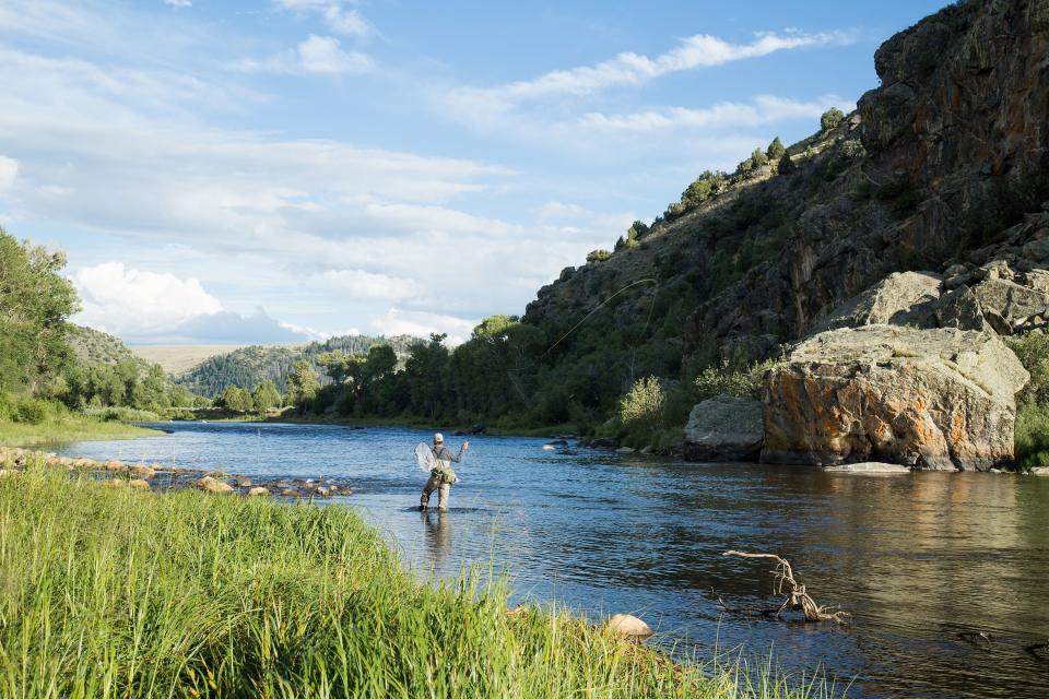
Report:
M 684 453 L 693 461 L 753 460 L 761 454 L 764 437 L 761 401 L 719 395 L 692 408 Z

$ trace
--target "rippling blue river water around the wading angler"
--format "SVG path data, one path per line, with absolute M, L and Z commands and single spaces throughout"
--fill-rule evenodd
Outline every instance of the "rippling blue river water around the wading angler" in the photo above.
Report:
M 471 437 L 451 511 L 424 514 L 412 507 L 426 478 L 412 449 L 427 433 L 161 427 L 173 433 L 61 451 L 346 479 L 355 493 L 335 501 L 358 508 L 421 576 L 491 564 L 519 599 L 592 618 L 636 614 L 679 652 L 773 654 L 799 678 L 822 670 L 839 690 L 852 683 L 850 697 L 1049 697 L 1049 652 L 1024 650 L 1049 640 L 1049 478 L 826 474 Z M 724 613 L 719 595 L 733 607 L 775 604 L 770 566 L 728 549 L 783 556 L 852 624 Z M 977 632 L 990 640 L 959 636 Z

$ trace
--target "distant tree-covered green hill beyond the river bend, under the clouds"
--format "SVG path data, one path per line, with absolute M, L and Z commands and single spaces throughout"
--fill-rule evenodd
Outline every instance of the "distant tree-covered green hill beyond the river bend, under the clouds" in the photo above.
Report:
M 326 352 L 341 350 L 346 354 L 367 354 L 375 344 L 390 345 L 399 359 L 408 356 L 412 343 L 420 342 L 411 335 L 373 337 L 368 335 L 342 335 L 323 342 L 306 345 L 251 345 L 232 352 L 212 355 L 189 369 L 175 375 L 175 382 L 193 393 L 214 398 L 227 386 L 252 390 L 266 380 L 273 381 L 283 393 L 287 390 L 287 377 L 292 365 L 298 359 L 309 359 L 318 375 L 322 371 L 317 357 Z M 323 377 L 321 377 L 323 382 Z

